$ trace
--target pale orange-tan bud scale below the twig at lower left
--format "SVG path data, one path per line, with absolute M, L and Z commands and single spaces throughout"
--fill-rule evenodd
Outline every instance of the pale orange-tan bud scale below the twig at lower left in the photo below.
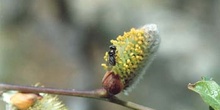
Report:
M 19 110 L 25 110 L 31 107 L 37 99 L 42 97 L 34 93 L 16 93 L 14 94 L 10 101 Z

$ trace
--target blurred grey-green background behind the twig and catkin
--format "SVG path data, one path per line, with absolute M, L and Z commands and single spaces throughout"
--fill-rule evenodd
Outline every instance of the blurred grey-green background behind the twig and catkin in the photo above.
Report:
M 157 110 L 208 110 L 187 84 L 201 76 L 220 83 L 219 12 L 219 0 L 0 0 L 0 82 L 98 88 L 109 40 L 155 23 L 162 39 L 157 57 L 129 96 L 118 96 Z M 70 110 L 128 110 L 61 99 Z

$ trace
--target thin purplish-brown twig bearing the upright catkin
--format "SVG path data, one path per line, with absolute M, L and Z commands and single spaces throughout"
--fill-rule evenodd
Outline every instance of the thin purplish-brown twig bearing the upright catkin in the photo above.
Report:
M 56 95 L 94 98 L 94 99 L 99 99 L 99 100 L 104 100 L 107 102 L 115 103 L 115 104 L 118 104 L 118 105 L 121 105 L 127 108 L 131 108 L 134 110 L 154 110 L 152 108 L 145 107 L 145 106 L 133 103 L 133 102 L 121 100 L 115 96 L 110 96 L 104 88 L 91 90 L 91 91 L 77 91 L 77 90 L 68 90 L 68 89 L 55 89 L 55 88 L 45 88 L 45 87 L 0 84 L 0 93 L 1 91 L 7 91 L 7 90 L 16 90 L 16 91 L 28 92 L 28 93 L 48 93 L 48 94 L 56 94 Z

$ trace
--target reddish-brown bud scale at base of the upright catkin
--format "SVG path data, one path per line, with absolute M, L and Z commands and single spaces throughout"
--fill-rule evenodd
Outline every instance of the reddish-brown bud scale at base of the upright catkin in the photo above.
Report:
M 113 71 L 107 71 L 102 79 L 102 86 L 110 95 L 116 95 L 124 89 L 120 76 Z

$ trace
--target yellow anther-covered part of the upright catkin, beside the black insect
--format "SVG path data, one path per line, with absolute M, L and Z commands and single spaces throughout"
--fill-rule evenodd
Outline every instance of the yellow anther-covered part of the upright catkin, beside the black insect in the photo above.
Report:
M 115 74 L 119 74 L 121 79 L 125 82 L 127 81 L 126 78 L 130 78 L 128 77 L 129 75 L 135 76 L 132 74 L 138 74 L 136 72 L 139 69 L 138 65 L 144 63 L 143 57 L 147 54 L 147 39 L 144 36 L 144 30 L 132 28 L 129 32 L 124 32 L 124 35 L 120 35 L 116 40 L 111 40 L 110 42 L 115 45 L 117 49 L 116 65 L 112 68 L 112 66 L 108 64 L 109 56 L 106 52 L 104 56 L 106 63 L 103 63 L 102 66 L 106 70 L 111 69 Z

